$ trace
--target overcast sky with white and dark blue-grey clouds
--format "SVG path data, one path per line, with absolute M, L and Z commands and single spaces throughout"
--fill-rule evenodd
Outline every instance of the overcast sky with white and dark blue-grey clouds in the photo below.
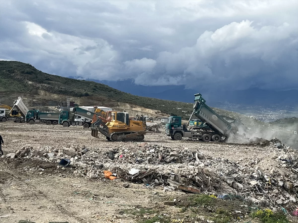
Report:
M 0 59 L 136 84 L 298 88 L 298 1 L 0 1 Z

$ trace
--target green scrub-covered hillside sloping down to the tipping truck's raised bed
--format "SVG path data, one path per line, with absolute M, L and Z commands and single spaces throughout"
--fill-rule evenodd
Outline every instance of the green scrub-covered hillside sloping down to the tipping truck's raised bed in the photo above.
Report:
M 185 114 L 191 114 L 193 110 L 191 103 L 139 97 L 94 81 L 75 80 L 47 74 L 30 64 L 17 61 L 0 61 L 0 94 L 1 92 L 29 93 L 36 91 L 36 89 L 59 95 L 86 97 L 91 100 L 115 100 L 133 103 L 166 114 L 179 115 L 184 119 L 187 119 Z

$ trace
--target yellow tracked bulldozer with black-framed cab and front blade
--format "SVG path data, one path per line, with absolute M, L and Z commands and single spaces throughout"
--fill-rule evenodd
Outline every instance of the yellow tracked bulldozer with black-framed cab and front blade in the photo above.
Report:
M 98 132 L 103 134 L 108 141 L 142 141 L 145 138 L 145 134 L 153 133 L 151 129 L 155 129 L 159 132 L 157 125 L 147 126 L 146 118 L 137 116 L 138 120 L 131 120 L 128 112 L 108 111 L 107 114 L 111 114 L 106 119 L 108 122 L 104 123 L 104 118 L 93 113 L 97 116 L 97 120 L 91 124 L 91 135 L 98 137 Z

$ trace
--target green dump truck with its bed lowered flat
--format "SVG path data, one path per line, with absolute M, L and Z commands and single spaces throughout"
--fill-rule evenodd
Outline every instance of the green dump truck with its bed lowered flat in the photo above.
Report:
M 29 124 L 46 123 L 47 125 L 57 125 L 60 113 L 39 112 L 38 110 L 28 111 L 26 114 L 26 122 Z

